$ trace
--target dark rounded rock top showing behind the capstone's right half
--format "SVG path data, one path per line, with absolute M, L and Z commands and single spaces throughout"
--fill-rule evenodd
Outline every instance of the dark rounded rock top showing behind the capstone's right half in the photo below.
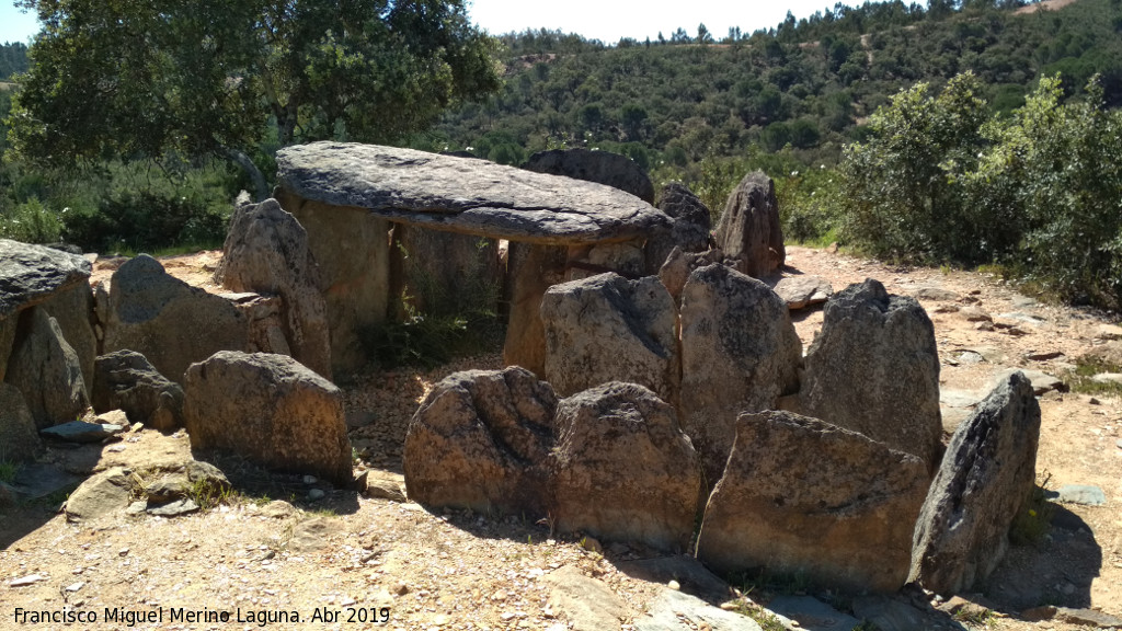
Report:
M 605 184 L 654 203 L 654 184 L 646 173 L 632 158 L 611 152 L 585 148 L 537 152 L 522 168 Z

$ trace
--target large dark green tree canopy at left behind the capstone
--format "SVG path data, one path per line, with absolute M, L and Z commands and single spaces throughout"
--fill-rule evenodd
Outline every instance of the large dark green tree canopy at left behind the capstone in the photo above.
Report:
M 499 88 L 462 0 L 21 0 L 44 25 L 18 79 L 29 161 L 389 143 Z M 258 174 L 259 175 L 259 174 Z M 261 188 L 264 180 L 257 183 Z

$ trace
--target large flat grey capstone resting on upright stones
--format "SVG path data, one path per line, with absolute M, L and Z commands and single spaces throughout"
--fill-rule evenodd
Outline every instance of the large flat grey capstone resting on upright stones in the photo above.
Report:
M 623 241 L 670 226 L 610 186 L 413 149 L 313 143 L 280 149 L 277 170 L 280 185 L 306 200 L 515 241 Z

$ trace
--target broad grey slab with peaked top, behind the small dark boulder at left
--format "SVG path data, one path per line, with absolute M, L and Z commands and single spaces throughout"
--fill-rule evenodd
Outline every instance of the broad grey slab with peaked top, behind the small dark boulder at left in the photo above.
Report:
M 246 317 L 230 301 L 173 277 L 144 254 L 113 273 L 108 307 L 104 351 L 135 350 L 172 381 L 182 381 L 192 363 L 249 344 Z

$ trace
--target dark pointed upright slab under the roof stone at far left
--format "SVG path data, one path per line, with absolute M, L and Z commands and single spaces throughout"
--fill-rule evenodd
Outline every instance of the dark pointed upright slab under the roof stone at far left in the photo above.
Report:
M 40 307 L 19 314 L 6 379 L 24 394 L 39 429 L 72 421 L 90 406 L 77 354 Z

